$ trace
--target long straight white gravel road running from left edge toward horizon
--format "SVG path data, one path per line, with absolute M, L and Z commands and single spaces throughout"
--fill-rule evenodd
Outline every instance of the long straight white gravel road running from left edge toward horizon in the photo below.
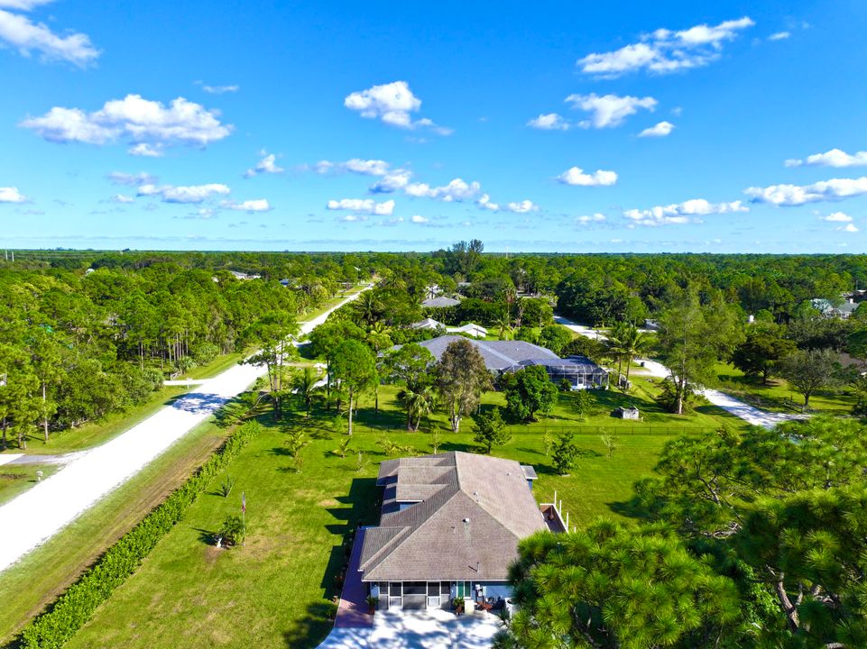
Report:
M 325 322 L 331 311 L 351 302 L 359 293 L 303 323 L 300 337 L 309 334 Z M 0 507 L 0 530 L 6 531 L 0 534 L 0 571 L 132 478 L 264 373 L 264 367 L 235 365 L 110 442 L 81 453 L 61 471 Z

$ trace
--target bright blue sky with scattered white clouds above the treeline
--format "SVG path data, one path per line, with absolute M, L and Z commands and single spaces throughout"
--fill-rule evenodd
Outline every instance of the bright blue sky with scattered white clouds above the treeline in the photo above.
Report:
M 861 252 L 867 5 L 0 0 L 0 246 Z

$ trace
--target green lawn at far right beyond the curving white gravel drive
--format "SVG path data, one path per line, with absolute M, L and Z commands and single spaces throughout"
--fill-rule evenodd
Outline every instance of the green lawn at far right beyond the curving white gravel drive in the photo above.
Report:
M 799 411 L 804 404 L 804 398 L 789 387 L 786 379 L 773 377 L 768 385 L 762 385 L 761 379 L 744 376 L 730 363 L 718 363 L 716 372 L 725 392 L 766 410 Z M 810 397 L 810 410 L 825 415 L 848 415 L 855 401 L 853 389 L 849 387 L 818 390 Z

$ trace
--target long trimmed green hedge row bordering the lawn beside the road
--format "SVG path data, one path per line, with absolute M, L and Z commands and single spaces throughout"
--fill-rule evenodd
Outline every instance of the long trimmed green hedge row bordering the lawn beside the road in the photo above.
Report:
M 226 442 L 198 471 L 172 491 L 169 498 L 145 516 L 141 523 L 109 547 L 97 563 L 84 572 L 48 611 L 24 628 L 20 646 L 25 649 L 49 649 L 69 642 L 112 591 L 134 573 L 162 536 L 183 518 L 210 481 L 226 469 L 229 462 L 261 429 L 258 422 L 249 421 L 229 434 Z

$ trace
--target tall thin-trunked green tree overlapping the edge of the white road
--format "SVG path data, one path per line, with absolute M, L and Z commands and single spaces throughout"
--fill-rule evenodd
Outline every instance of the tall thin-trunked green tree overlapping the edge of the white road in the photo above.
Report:
M 268 370 L 268 382 L 274 404 L 274 418 L 279 419 L 283 395 L 283 379 L 286 361 L 291 360 L 297 350 L 291 337 L 298 332 L 295 318 L 284 311 L 270 311 L 252 324 L 246 338 L 261 349 L 243 361 L 249 365 L 264 365 Z

